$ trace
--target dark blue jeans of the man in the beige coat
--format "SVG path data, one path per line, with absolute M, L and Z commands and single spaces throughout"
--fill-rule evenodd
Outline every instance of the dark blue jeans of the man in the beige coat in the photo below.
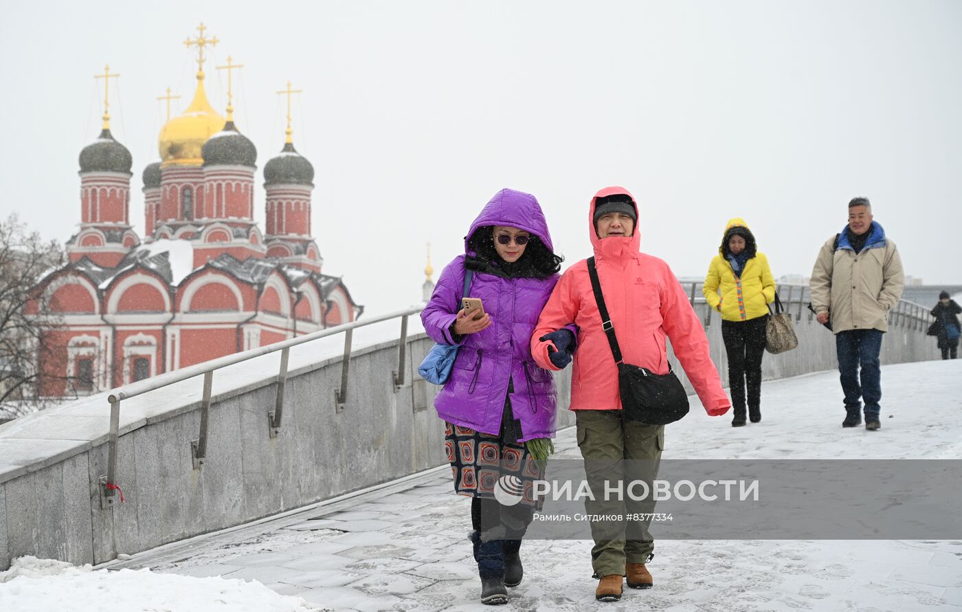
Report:
M 882 398 L 881 370 L 878 367 L 881 348 L 882 332 L 877 329 L 849 329 L 835 334 L 845 409 L 857 412 L 862 407 L 859 399 L 863 399 L 866 421 L 877 421 L 881 410 L 878 405 Z

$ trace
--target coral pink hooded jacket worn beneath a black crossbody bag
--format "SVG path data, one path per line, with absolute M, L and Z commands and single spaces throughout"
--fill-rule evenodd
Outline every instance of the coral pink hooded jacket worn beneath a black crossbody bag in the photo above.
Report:
M 595 193 L 588 213 L 588 229 L 601 290 L 624 361 L 659 374 L 668 373 L 666 338 L 670 339 L 674 354 L 705 410 L 710 415 L 723 414 L 731 402 L 712 363 L 701 322 L 671 268 L 657 257 L 639 251 L 641 238 L 637 225 L 630 237 L 601 240 L 595 234 L 595 201 L 615 193 L 631 195 L 620 187 Z M 637 213 L 637 205 L 635 210 Z M 531 339 L 531 354 L 539 366 L 558 370 L 547 357 L 551 343 L 539 339 L 570 323 L 576 324 L 579 330 L 570 409 L 620 409 L 618 367 L 601 328 L 587 260 L 565 271 L 544 305 Z

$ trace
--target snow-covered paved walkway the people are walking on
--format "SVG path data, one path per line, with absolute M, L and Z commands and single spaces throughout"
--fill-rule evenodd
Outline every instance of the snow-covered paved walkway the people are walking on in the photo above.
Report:
M 766 382 L 762 422 L 733 429 L 728 417 L 710 419 L 693 406 L 669 426 L 664 458 L 962 459 L 962 361 L 885 367 L 882 389 L 882 429 L 868 432 L 840 426 L 835 372 Z M 579 456 L 573 438 L 571 429 L 559 433 L 560 456 Z M 107 564 L 137 574 L 0 573 L 0 609 L 52 609 L 52 599 L 42 598 L 58 591 L 58 580 L 77 586 L 79 574 L 95 574 L 104 577 L 88 580 L 93 601 L 129 595 L 124 590 L 139 582 L 144 607 L 123 608 L 130 610 L 491 610 L 476 602 L 468 508 L 467 497 L 452 493 L 444 466 Z M 509 590 L 506 608 L 962 611 L 962 540 L 661 541 L 649 565 L 654 588 L 625 589 L 619 603 L 595 602 L 591 546 L 525 541 L 524 580 Z M 174 581 L 181 576 L 198 580 Z M 199 580 L 213 576 L 223 578 Z M 276 598 L 258 599 L 265 594 L 256 589 L 244 595 L 258 585 L 243 581 L 254 580 Z M 177 595 L 196 598 L 203 588 L 220 595 L 178 607 Z M 82 589 L 69 593 L 75 603 L 85 598 Z

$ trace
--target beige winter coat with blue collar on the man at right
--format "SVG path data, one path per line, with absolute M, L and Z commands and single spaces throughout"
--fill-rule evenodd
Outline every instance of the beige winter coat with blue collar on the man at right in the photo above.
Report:
M 836 334 L 849 329 L 888 331 L 889 309 L 901 299 L 905 276 L 899 250 L 885 238 L 884 231 L 880 240 L 873 238 L 856 255 L 851 247 L 846 248 L 844 235 L 840 248 L 833 252 L 832 236 L 822 245 L 812 269 L 812 306 L 817 313 L 828 312 Z

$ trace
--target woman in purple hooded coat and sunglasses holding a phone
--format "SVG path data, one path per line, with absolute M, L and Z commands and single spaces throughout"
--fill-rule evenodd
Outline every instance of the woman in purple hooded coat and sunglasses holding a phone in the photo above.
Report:
M 554 381 L 535 364 L 530 341 L 562 258 L 538 200 L 514 190 L 495 193 L 474 219 L 465 253 L 444 268 L 421 320 L 436 342 L 461 346 L 434 405 L 446 424 L 454 489 L 472 497 L 481 601 L 505 603 L 505 587 L 521 581 L 521 537 L 539 507 L 532 482 L 544 476 L 544 463 L 529 450 L 538 443 L 525 443 L 551 438 L 555 429 Z M 481 299 L 480 319 L 461 309 L 466 270 L 465 295 Z M 552 361 L 563 368 L 574 336 L 560 330 L 550 340 L 558 348 Z

